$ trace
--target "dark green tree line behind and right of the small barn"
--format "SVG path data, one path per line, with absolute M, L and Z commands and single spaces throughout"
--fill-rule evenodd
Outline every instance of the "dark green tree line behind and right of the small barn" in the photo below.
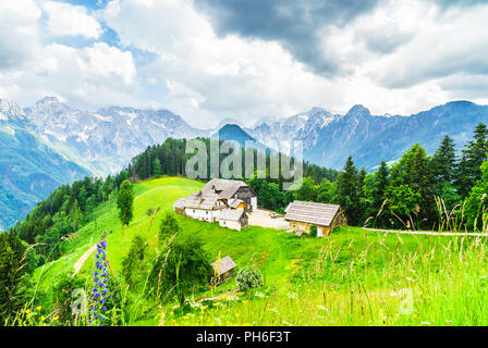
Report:
M 252 181 L 252 186 L 270 209 L 293 199 L 340 204 L 355 226 L 438 229 L 449 219 L 457 228 L 479 229 L 487 221 L 487 153 L 488 130 L 480 123 L 460 157 L 446 135 L 434 156 L 415 144 L 395 163 L 381 161 L 374 173 L 358 170 L 349 157 L 334 182 L 305 177 L 302 188 L 282 196 L 267 183 Z M 277 197 L 282 204 L 274 203 Z

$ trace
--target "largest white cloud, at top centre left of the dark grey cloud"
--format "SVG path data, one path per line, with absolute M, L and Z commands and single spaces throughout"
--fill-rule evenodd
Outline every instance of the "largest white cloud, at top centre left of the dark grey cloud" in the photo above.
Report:
M 139 69 L 141 76 L 163 80 L 168 94 L 159 104 L 193 124 L 286 115 L 337 96 L 331 82 L 314 75 L 278 42 L 217 36 L 190 2 L 113 1 L 101 17 L 123 45 L 157 53 Z

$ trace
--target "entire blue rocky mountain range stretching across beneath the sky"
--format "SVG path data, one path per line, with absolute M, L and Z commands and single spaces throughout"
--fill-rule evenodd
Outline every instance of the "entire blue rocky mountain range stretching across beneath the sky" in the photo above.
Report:
M 240 144 L 254 139 L 259 147 L 291 154 L 298 140 L 309 162 L 339 170 L 351 154 L 358 166 L 374 170 L 381 159 L 398 160 L 414 142 L 434 153 L 446 134 L 462 148 L 475 126 L 488 122 L 488 107 L 453 101 L 408 116 L 373 115 L 363 105 L 345 114 L 313 108 L 268 120 L 245 127 L 225 119 L 216 129 L 198 129 L 168 110 L 85 111 L 53 97 L 23 109 L 0 99 L 0 229 L 22 219 L 57 186 L 115 173 L 168 137 L 219 137 Z

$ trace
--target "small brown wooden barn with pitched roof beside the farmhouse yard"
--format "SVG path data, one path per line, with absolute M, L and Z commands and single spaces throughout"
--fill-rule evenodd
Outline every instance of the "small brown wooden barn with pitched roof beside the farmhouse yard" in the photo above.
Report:
M 344 211 L 337 204 L 295 200 L 284 212 L 290 228 L 298 234 L 310 233 L 310 227 L 316 226 L 317 237 L 322 237 L 329 235 L 333 227 L 347 224 Z

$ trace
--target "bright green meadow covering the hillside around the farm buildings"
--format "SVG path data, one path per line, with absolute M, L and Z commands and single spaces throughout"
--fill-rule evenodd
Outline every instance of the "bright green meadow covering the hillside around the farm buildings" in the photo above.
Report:
M 115 202 L 93 212 L 93 221 L 62 241 L 63 256 L 36 270 L 36 303 L 54 308 L 52 286 L 105 235 L 113 273 L 139 234 L 158 250 L 162 214 L 204 184 L 162 177 L 134 185 L 135 213 L 121 227 Z M 230 256 L 252 264 L 265 279 L 241 294 L 235 281 L 194 294 L 190 306 L 160 304 L 131 294 L 125 325 L 488 325 L 488 262 L 484 237 L 423 236 L 335 228 L 325 238 L 252 226 L 242 232 L 178 216 L 183 234 L 202 238 L 210 258 Z M 89 287 L 95 257 L 80 270 Z

